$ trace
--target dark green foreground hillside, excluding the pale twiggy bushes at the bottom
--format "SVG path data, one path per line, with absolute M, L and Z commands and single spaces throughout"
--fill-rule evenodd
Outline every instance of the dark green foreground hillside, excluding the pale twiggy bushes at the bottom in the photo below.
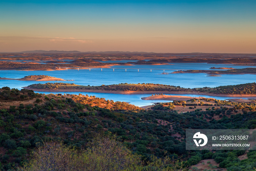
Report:
M 35 147 L 44 148 L 46 140 L 63 141 L 65 145 L 80 150 L 86 149 L 98 134 L 111 132 L 133 154 L 141 155 L 146 161 L 167 156 L 185 161 L 184 167 L 188 167 L 203 159 L 214 159 L 220 163 L 219 167 L 230 171 L 242 168 L 243 171 L 253 170 L 256 163 L 255 151 L 248 151 L 246 154 L 242 150 L 185 150 L 187 128 L 256 127 L 256 112 L 252 103 L 199 100 L 157 104 L 151 110 L 144 110 L 124 102 L 93 96 L 42 95 L 32 90 L 4 87 L 0 89 L 1 166 L 4 170 L 22 166 L 29 161 L 31 150 Z M 201 104 L 204 106 L 207 101 L 212 101 L 213 106 L 208 105 L 207 110 L 201 110 Z M 200 106 L 197 105 L 190 112 L 181 113 L 175 108 L 190 103 L 195 106 L 195 102 Z M 47 152 L 48 149 L 45 150 Z M 240 155 L 248 156 L 248 160 L 241 161 L 238 158 Z M 123 162 L 128 162 L 128 158 Z

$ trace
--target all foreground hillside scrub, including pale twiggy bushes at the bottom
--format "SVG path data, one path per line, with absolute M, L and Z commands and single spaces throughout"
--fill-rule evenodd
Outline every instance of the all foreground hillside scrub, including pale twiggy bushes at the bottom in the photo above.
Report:
M 2 170 L 179 170 L 203 159 L 214 159 L 228 171 L 256 167 L 251 150 L 185 150 L 187 128 L 256 128 L 253 102 L 191 99 L 144 110 L 103 98 L 7 87 L 0 89 L 0 101 Z M 175 110 L 182 105 L 194 109 Z M 248 159 L 238 159 L 243 154 Z

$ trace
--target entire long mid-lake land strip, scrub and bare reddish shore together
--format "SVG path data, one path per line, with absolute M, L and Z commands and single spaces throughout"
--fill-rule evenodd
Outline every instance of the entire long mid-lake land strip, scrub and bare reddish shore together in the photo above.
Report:
M 45 83 L 32 84 L 25 89 L 38 92 L 95 92 L 115 94 L 148 94 L 148 93 L 169 93 L 169 94 L 199 94 L 214 96 L 253 97 L 256 96 L 256 83 L 245 83 L 239 85 L 218 86 L 215 88 L 181 88 L 180 86 L 162 85 L 153 83 L 128 84 L 120 83 L 101 86 L 83 86 L 74 83 Z

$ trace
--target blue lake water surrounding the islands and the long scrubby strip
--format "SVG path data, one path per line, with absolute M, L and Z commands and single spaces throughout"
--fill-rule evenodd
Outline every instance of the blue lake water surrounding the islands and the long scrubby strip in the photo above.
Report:
M 121 61 L 125 62 L 125 61 Z M 216 87 L 222 85 L 236 85 L 241 83 L 255 82 L 256 75 L 222 75 L 222 77 L 206 77 L 207 74 L 161 74 L 163 70 L 171 73 L 182 69 L 200 69 L 209 70 L 210 67 L 233 67 L 245 68 L 246 66 L 236 65 L 217 65 L 207 63 L 170 63 L 173 65 L 133 65 L 133 66 L 113 66 L 111 68 L 91 69 L 89 70 L 54 70 L 54 71 L 16 71 L 16 70 L 1 70 L 0 77 L 6 78 L 22 78 L 27 75 L 49 75 L 52 77 L 63 79 L 74 79 L 75 81 L 64 81 L 65 83 L 75 83 L 78 85 L 110 85 L 118 83 L 159 83 L 166 85 L 181 86 L 184 88 L 198 87 Z M 255 66 L 253 66 L 255 67 Z M 114 68 L 114 71 L 113 71 Z M 123 68 L 123 69 L 121 69 Z M 127 71 L 125 72 L 125 69 Z M 139 69 L 139 72 L 138 72 Z M 150 69 L 152 70 L 150 72 Z M 46 81 L 49 82 L 49 81 Z M 18 81 L 18 80 L 0 80 L 0 87 L 8 86 L 10 88 L 21 89 L 34 83 L 46 83 L 43 81 Z M 57 82 L 57 81 L 50 81 Z M 41 92 L 49 94 L 50 92 Z M 60 93 L 60 92 L 57 92 Z M 61 92 L 64 94 L 64 92 Z M 163 101 L 146 101 L 141 100 L 141 97 L 151 96 L 151 94 L 110 94 L 110 93 L 84 93 L 84 92 L 66 92 L 68 94 L 88 94 L 90 96 L 103 97 L 114 101 L 126 101 L 137 106 L 149 105 L 151 102 Z M 56 93 L 54 93 L 56 94 Z M 184 94 L 183 96 L 199 97 L 196 95 Z M 206 97 L 206 96 L 204 96 Z M 219 100 L 224 100 L 229 97 L 213 97 Z

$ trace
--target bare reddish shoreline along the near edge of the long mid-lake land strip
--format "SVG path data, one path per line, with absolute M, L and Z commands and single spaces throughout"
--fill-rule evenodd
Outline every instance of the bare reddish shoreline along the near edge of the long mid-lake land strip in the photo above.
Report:
M 23 89 L 33 90 L 35 92 L 88 92 L 88 93 L 111 93 L 111 94 L 194 94 L 194 95 L 203 95 L 203 96 L 218 96 L 218 97 L 256 97 L 256 94 L 211 94 L 211 93 L 195 93 L 195 92 L 168 92 L 168 91 L 144 91 L 144 92 L 135 92 L 135 91 L 107 91 L 107 90 L 81 90 L 81 89 L 58 89 L 58 90 L 46 90 L 46 89 L 31 89 L 28 87 L 22 87 Z

